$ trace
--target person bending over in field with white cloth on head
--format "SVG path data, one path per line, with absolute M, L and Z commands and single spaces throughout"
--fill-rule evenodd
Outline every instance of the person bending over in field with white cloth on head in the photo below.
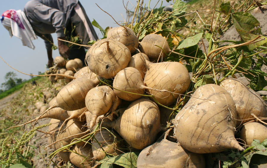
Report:
M 22 40 L 24 46 L 34 49 L 32 40 L 36 35 L 44 39 L 47 49 L 48 63 L 53 63 L 51 33 L 56 33 L 57 38 L 79 37 L 79 43 L 86 45 L 90 40 L 98 37 L 84 8 L 78 0 L 31 0 L 24 10 L 10 9 L 1 16 L 3 26 L 9 35 Z M 79 58 L 84 62 L 85 48 L 73 46 L 69 48 L 65 42 L 58 40 L 59 54 L 65 58 Z

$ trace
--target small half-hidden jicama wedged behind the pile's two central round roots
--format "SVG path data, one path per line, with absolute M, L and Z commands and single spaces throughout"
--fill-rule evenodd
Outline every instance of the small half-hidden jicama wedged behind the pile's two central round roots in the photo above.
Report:
M 131 60 L 127 67 L 136 68 L 140 72 L 142 79 L 144 79 L 144 75 L 146 74 L 147 71 L 147 65 L 145 60 L 149 61 L 149 58 L 146 54 L 137 53 L 131 57 Z

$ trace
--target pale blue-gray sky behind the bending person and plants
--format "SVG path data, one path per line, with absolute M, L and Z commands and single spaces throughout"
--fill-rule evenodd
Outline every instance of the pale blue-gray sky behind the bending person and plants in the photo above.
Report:
M 28 0 L 15 0 L 15 1 L 1 1 L 0 5 L 0 14 L 5 12 L 8 9 L 21 9 L 23 10 L 24 5 Z M 116 27 L 116 23 L 114 20 L 103 10 L 108 12 L 114 17 L 117 22 L 125 21 L 127 19 L 126 10 L 123 6 L 123 0 L 80 0 L 82 6 L 85 8 L 85 11 L 92 22 L 96 20 L 102 28 Z M 128 2 L 128 9 L 134 11 L 136 6 L 136 0 L 124 0 L 124 4 L 126 5 Z M 148 4 L 149 0 L 144 0 L 144 3 Z M 154 7 L 158 0 L 151 0 L 150 7 Z M 157 7 L 160 7 L 161 0 Z M 173 2 L 166 2 L 163 0 L 163 6 L 167 6 L 169 4 L 173 4 Z M 147 5 L 146 5 L 147 6 Z M 102 35 L 98 28 L 95 28 L 98 37 L 102 38 Z M 27 46 L 22 46 L 21 40 L 16 37 L 9 37 L 8 31 L 0 24 L 0 56 L 12 67 L 17 70 L 20 70 L 27 74 L 38 74 L 38 72 L 45 72 L 46 64 L 47 64 L 47 54 L 44 42 L 41 38 L 38 38 L 33 41 L 35 45 L 35 50 L 28 48 Z M 55 33 L 52 34 L 54 43 L 57 44 Z M 59 56 L 58 50 L 53 51 L 53 58 Z M 10 68 L 7 64 L 5 64 L 0 59 L 0 84 L 4 83 L 4 76 L 7 72 L 15 72 L 18 78 L 22 79 L 30 79 L 30 76 L 21 74 L 12 68 Z

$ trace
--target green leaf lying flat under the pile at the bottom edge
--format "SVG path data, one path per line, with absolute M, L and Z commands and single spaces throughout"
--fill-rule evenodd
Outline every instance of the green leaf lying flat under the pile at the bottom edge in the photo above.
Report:
M 135 168 L 138 152 L 129 152 L 125 154 L 120 154 L 111 158 L 103 159 L 99 161 L 102 164 L 117 164 L 125 168 Z

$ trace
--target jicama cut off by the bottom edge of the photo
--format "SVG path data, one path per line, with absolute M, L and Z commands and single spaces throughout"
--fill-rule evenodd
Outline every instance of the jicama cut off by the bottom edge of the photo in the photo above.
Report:
M 205 158 L 185 150 L 180 143 L 163 139 L 144 148 L 137 158 L 138 168 L 205 168 Z

